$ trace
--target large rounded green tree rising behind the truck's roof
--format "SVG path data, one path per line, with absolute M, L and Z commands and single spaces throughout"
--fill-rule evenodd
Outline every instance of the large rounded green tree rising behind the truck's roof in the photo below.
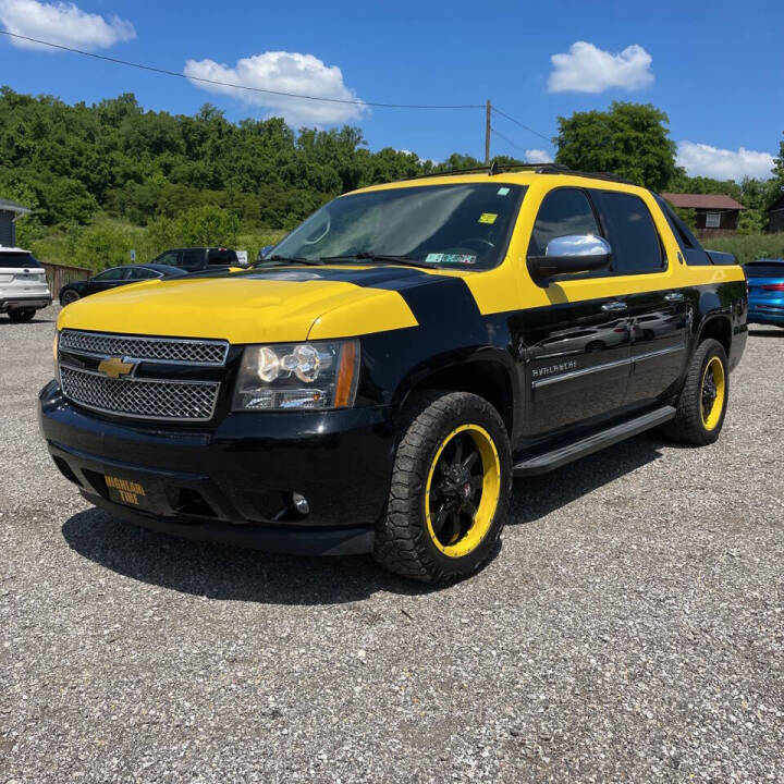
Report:
M 559 118 L 555 161 L 580 171 L 610 171 L 662 191 L 675 174 L 667 115 L 650 103 L 614 101 L 610 110 Z

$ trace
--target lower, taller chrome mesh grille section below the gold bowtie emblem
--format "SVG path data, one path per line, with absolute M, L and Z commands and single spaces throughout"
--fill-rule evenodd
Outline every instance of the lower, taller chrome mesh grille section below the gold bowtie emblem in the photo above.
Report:
M 142 419 L 206 421 L 212 418 L 220 383 L 112 379 L 101 373 L 60 366 L 63 394 L 87 408 Z

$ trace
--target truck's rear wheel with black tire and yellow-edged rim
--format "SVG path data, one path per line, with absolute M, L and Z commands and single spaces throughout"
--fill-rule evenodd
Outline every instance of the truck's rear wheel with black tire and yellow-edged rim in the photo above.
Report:
M 721 382 L 716 379 L 716 363 L 721 366 Z M 706 389 L 709 382 L 709 366 L 716 385 L 716 397 L 707 412 L 706 405 L 710 396 L 710 390 Z M 708 397 L 703 399 L 703 392 Z M 677 414 L 664 426 L 664 433 L 679 443 L 697 446 L 713 443 L 724 425 L 728 396 L 730 371 L 726 352 L 719 341 L 709 338 L 697 346 L 691 357 L 686 382 L 678 399 Z

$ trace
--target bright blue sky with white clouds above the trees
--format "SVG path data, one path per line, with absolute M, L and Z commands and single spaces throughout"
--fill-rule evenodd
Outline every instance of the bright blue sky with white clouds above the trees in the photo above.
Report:
M 764 176 L 784 132 L 784 3 L 437 0 L 0 0 L 0 28 L 189 75 L 394 103 L 495 106 L 546 137 L 559 115 L 612 100 L 670 115 L 693 174 Z M 553 59 L 554 58 L 554 59 Z M 371 149 L 483 155 L 482 110 L 413 111 L 275 100 L 29 48 L 0 36 L 0 84 L 93 102 L 133 91 L 145 108 L 284 114 L 295 126 L 359 125 Z M 553 154 L 495 115 L 492 150 Z

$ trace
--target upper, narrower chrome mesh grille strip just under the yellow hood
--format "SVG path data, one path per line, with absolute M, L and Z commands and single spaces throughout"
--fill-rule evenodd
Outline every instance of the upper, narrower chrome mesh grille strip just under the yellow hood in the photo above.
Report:
M 60 334 L 60 350 L 145 362 L 216 366 L 225 364 L 229 343 L 187 338 L 148 338 L 63 330 Z

